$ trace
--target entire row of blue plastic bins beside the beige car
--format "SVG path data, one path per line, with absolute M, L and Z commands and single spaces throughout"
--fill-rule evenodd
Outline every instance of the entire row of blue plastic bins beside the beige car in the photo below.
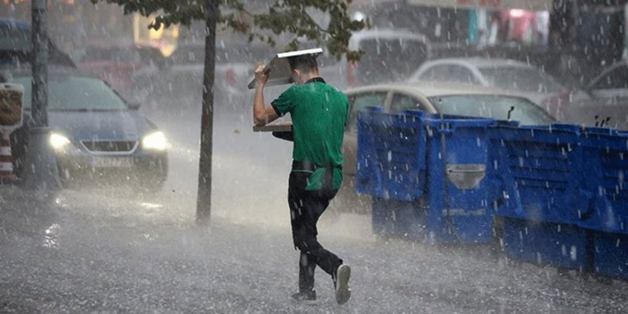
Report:
M 369 109 L 358 143 L 376 234 L 486 243 L 499 215 L 509 256 L 628 279 L 628 133 Z

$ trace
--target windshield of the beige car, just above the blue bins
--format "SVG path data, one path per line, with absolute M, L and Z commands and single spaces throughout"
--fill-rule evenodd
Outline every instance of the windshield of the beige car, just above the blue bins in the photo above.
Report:
M 543 109 L 520 97 L 503 95 L 446 95 L 430 97 L 438 112 L 455 116 L 511 119 L 521 124 L 551 124 L 554 122 Z

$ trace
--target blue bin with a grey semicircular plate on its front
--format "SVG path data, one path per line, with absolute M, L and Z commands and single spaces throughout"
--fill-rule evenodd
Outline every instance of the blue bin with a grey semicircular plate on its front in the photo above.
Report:
M 428 242 L 492 241 L 487 137 L 494 119 L 430 116 L 427 130 Z M 468 180 L 460 180 L 468 176 Z M 470 179 L 474 176 L 474 179 Z M 462 181 L 467 181 L 466 185 Z

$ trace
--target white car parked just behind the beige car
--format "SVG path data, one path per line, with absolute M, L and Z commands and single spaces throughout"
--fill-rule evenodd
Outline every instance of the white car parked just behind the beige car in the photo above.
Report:
M 568 89 L 542 69 L 508 59 L 443 58 L 423 63 L 410 82 L 438 81 L 496 87 L 538 105 Z

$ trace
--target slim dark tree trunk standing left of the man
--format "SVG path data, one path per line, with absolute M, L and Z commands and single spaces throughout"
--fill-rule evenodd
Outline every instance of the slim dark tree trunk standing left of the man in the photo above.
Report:
M 205 72 L 203 75 L 203 111 L 200 126 L 198 160 L 197 222 L 207 224 L 212 206 L 212 136 L 214 127 L 214 72 L 218 0 L 205 0 Z

